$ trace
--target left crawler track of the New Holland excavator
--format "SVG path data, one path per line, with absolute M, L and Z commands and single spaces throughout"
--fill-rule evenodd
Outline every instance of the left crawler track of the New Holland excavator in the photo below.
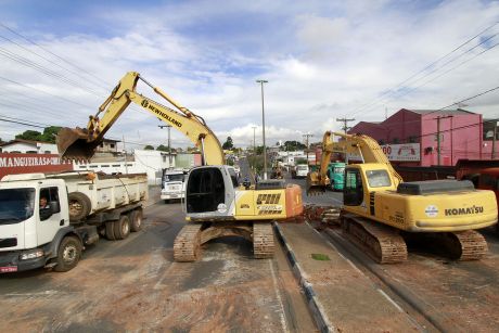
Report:
M 197 259 L 201 247 L 202 223 L 188 223 L 180 230 L 174 242 L 175 261 L 185 262 Z

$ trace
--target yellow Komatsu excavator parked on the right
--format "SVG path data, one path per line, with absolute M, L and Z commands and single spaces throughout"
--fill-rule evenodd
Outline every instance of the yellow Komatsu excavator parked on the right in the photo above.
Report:
M 335 142 L 335 136 L 342 140 Z M 479 259 L 487 253 L 475 230 L 497 222 L 494 192 L 475 190 L 468 180 L 404 182 L 378 142 L 363 135 L 327 131 L 322 151 L 320 170 L 307 176 L 307 194 L 325 191 L 333 152 L 357 155 L 362 163 L 345 168 L 340 219 L 346 235 L 378 262 L 407 259 L 401 233 L 424 233 L 452 259 Z

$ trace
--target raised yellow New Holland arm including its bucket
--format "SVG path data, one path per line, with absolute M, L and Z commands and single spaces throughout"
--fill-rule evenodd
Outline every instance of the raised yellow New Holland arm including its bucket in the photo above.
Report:
M 136 92 L 139 79 L 150 86 L 154 92 L 164 98 L 178 111 Z M 99 107 L 98 113 L 90 116 L 87 128 L 63 128 L 57 133 L 56 143 L 62 157 L 72 159 L 88 159 L 92 157 L 95 149 L 104 140 L 104 135 L 130 103 L 138 104 L 172 128 L 184 133 L 201 149 L 204 165 L 225 164 L 225 155 L 220 142 L 207 127 L 204 119 L 177 103 L 161 89 L 152 86 L 136 72 L 129 72 L 121 78 L 113 89 L 111 95 Z

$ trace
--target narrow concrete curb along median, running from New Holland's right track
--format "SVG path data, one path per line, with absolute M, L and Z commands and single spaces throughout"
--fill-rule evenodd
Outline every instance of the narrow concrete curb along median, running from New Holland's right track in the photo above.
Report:
M 302 266 L 296 260 L 293 248 L 291 248 L 290 243 L 286 241 L 284 234 L 282 233 L 281 227 L 278 222 L 273 222 L 273 227 L 277 231 L 279 242 L 284 246 L 287 260 L 290 260 L 291 267 L 293 269 L 293 274 L 296 277 L 296 279 L 298 279 L 299 285 L 305 291 L 308 307 L 312 313 L 314 319 L 316 320 L 316 324 L 319 328 L 319 331 L 323 333 L 336 332 L 336 329 L 333 326 L 328 316 L 325 315 L 322 305 L 320 304 L 319 299 L 317 299 L 314 286 L 307 281 L 307 273 L 303 270 Z

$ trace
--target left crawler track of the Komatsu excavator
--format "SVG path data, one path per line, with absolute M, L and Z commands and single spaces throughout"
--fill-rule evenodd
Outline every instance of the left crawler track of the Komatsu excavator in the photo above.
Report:
M 350 241 L 379 264 L 407 260 L 406 242 L 396 230 L 353 216 L 344 216 L 342 227 Z

